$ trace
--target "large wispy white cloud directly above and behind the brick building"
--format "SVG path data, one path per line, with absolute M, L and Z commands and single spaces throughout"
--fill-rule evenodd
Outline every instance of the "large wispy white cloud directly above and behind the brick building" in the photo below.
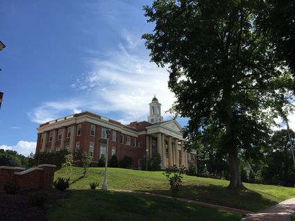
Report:
M 168 116 L 165 111 L 175 100 L 168 89 L 169 73 L 149 62 L 146 49 L 140 55 L 144 42 L 133 36 L 124 32 L 125 42 L 119 43 L 117 51 L 105 53 L 103 58 L 87 58 L 89 72 L 71 84 L 79 91 L 78 98 L 46 102 L 29 113 L 31 121 L 44 123 L 82 109 L 108 117 L 119 113 L 117 120 L 122 123 L 143 121 L 154 94 L 162 104 L 163 115 Z

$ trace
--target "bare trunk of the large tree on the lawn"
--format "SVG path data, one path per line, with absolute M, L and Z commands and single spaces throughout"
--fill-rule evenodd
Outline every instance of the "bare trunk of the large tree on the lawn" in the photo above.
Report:
M 242 188 L 241 174 L 239 172 L 239 159 L 237 157 L 237 149 L 231 151 L 228 155 L 228 163 L 230 167 L 230 185 L 229 188 Z

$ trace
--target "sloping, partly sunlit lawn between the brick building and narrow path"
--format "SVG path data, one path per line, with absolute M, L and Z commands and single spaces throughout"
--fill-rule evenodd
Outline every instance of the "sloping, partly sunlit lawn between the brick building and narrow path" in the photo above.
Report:
M 70 188 L 90 188 L 90 182 L 103 183 L 104 168 L 74 168 Z M 55 178 L 65 177 L 65 170 L 56 171 Z M 262 184 L 244 184 L 244 190 L 226 188 L 228 181 L 184 175 L 183 187 L 178 194 L 189 200 L 199 200 L 247 211 L 260 211 L 278 202 L 295 197 L 295 188 Z M 108 168 L 108 188 L 148 191 L 170 195 L 169 185 L 162 172 L 146 172 L 121 168 Z

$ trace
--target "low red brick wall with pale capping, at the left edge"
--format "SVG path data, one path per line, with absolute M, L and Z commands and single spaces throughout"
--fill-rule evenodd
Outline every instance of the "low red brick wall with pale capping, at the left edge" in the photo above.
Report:
M 37 168 L 24 170 L 0 166 L 0 193 L 5 192 L 4 184 L 15 181 L 20 184 L 22 191 L 31 188 L 52 188 L 55 165 L 42 164 Z

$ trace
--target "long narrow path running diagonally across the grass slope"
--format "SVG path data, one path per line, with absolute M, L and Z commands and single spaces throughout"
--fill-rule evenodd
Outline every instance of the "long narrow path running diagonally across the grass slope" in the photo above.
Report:
M 112 190 L 112 191 L 117 191 L 120 193 L 140 193 L 140 194 L 146 194 L 146 195 L 153 195 L 153 196 L 157 196 L 157 197 L 163 197 L 166 199 L 174 199 L 174 197 L 169 197 L 168 195 L 160 195 L 160 194 L 155 194 L 155 193 L 147 193 L 147 192 L 141 192 L 141 191 L 125 191 L 125 190 Z M 176 200 L 181 201 L 181 202 L 188 202 L 190 204 L 195 204 L 195 205 L 199 205 L 199 206 L 206 206 L 206 207 L 211 207 L 214 209 L 221 209 L 223 211 L 229 211 L 232 213 L 239 213 L 239 214 L 249 214 L 249 213 L 253 213 L 250 211 L 244 211 L 242 209 L 234 209 L 234 208 L 230 208 L 227 206 L 219 206 L 219 205 L 215 205 L 215 204 L 208 204 L 206 202 L 199 202 L 199 201 L 195 201 L 195 200 L 187 200 L 187 199 L 183 199 L 183 198 L 176 198 Z

